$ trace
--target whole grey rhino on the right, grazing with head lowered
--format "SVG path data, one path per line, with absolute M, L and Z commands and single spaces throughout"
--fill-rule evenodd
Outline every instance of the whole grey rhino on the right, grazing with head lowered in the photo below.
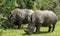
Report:
M 56 22 L 57 22 L 57 15 L 53 11 L 49 10 L 36 10 L 32 14 L 32 20 L 28 24 L 28 27 L 24 30 L 28 34 L 32 34 L 34 31 L 34 27 L 36 27 L 35 33 L 39 33 L 40 27 L 49 27 L 48 32 L 54 31 Z

